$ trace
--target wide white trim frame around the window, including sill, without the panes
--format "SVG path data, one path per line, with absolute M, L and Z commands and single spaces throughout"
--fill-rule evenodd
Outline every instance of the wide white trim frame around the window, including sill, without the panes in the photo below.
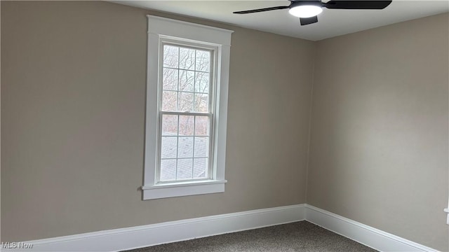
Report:
M 231 34 L 234 31 L 197 25 L 189 22 L 147 15 L 147 111 L 145 127 L 145 174 L 143 200 L 225 191 L 227 94 L 229 83 L 229 54 Z M 159 81 L 159 39 L 161 37 L 180 38 L 183 41 L 199 41 L 217 45 L 217 109 L 214 120 L 213 179 L 203 181 L 182 181 L 156 183 L 158 149 L 158 81 Z

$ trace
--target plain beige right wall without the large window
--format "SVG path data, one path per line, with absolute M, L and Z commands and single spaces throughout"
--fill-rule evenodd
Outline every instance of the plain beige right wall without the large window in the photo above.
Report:
M 448 14 L 317 44 L 307 203 L 448 251 Z

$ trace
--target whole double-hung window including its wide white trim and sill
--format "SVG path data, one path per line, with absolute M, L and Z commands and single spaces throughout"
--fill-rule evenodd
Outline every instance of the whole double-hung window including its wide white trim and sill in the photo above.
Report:
M 222 193 L 232 31 L 147 17 L 143 199 Z

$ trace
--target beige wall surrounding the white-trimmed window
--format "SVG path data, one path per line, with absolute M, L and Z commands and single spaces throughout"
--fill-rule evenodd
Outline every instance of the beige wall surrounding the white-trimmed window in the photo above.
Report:
M 141 200 L 149 13 L 1 1 L 2 241 L 305 202 L 314 43 L 198 20 L 235 31 L 229 183 Z

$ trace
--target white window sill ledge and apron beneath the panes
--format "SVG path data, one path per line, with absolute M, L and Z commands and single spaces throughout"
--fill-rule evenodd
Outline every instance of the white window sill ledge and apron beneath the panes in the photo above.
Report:
M 163 183 L 154 186 L 143 186 L 143 200 L 202 195 L 225 192 L 227 181 L 188 181 L 180 183 Z

